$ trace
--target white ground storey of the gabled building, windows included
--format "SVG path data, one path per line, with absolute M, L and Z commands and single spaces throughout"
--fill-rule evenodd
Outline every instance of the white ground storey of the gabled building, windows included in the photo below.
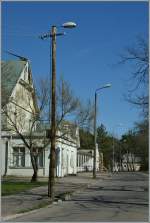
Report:
M 39 150 L 38 155 L 38 176 L 47 177 L 49 174 L 50 144 L 42 148 L 43 134 L 37 133 L 35 140 Z M 77 148 L 78 143 L 67 139 L 56 141 L 56 176 L 64 177 L 68 174 L 77 173 Z M 1 139 L 1 174 L 15 176 L 32 176 L 30 151 L 17 135 L 2 133 Z

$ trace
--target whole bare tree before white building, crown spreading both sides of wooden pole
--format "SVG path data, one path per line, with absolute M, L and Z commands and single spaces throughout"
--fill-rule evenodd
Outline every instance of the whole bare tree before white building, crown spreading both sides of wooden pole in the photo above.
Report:
M 33 176 L 31 181 L 37 181 L 39 168 L 38 157 L 50 144 L 51 140 L 51 134 L 49 134 L 48 137 L 44 134 L 46 130 L 49 129 L 49 133 L 51 130 L 50 99 L 49 81 L 42 78 L 39 80 L 36 95 L 34 91 L 32 92 L 32 97 L 31 94 L 26 95 L 25 100 L 27 107 L 30 108 L 29 110 L 18 104 L 17 99 L 10 99 L 8 105 L 3 107 L 3 115 L 7 117 L 10 130 L 19 135 L 24 145 L 30 151 L 33 167 Z M 34 101 L 38 104 L 38 108 L 36 110 L 32 104 Z M 69 84 L 61 78 L 57 86 L 56 139 L 68 139 L 71 123 L 72 126 L 77 126 L 77 124 L 80 124 L 80 126 L 88 125 L 89 120 L 92 120 L 90 109 L 91 105 L 88 103 L 83 106 L 80 100 L 74 96 Z M 24 132 L 24 127 L 27 124 L 27 119 L 25 117 L 26 113 L 30 113 L 31 119 L 28 123 L 28 131 Z M 66 120 L 69 122 L 66 122 Z M 41 133 L 39 131 L 41 131 Z M 40 139 L 39 136 L 41 136 Z M 38 149 L 39 144 L 40 149 Z

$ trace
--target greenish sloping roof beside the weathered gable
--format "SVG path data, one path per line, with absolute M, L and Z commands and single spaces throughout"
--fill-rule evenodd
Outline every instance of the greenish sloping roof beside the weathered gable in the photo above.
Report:
M 9 97 L 20 77 L 26 61 L 2 61 L 1 62 L 1 98 L 2 107 L 7 104 Z

